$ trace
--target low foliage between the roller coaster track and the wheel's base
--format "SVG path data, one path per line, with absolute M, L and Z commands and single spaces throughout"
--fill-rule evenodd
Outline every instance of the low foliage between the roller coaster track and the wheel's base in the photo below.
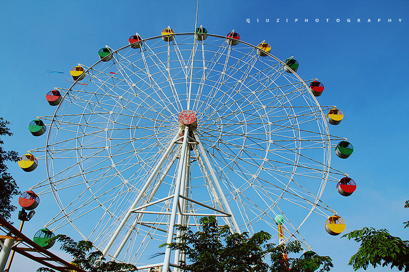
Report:
M 59 234 L 50 240 L 61 242 L 60 249 L 73 256 L 72 262 L 89 272 L 116 272 L 116 271 L 135 271 L 137 267 L 128 263 L 117 263 L 114 261 L 105 262 L 101 251 L 89 253 L 94 248 L 90 241 L 74 241 L 71 237 Z M 37 272 L 55 272 L 48 267 L 40 267 Z

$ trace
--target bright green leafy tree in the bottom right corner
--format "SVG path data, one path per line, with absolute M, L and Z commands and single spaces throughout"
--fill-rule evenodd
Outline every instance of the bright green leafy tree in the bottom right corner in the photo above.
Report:
M 409 201 L 406 201 L 404 207 L 409 207 Z M 409 226 L 409 221 L 403 224 L 406 228 Z M 343 237 L 360 242 L 358 252 L 351 257 L 348 263 L 353 265 L 354 270 L 359 268 L 366 270 L 371 264 L 374 268 L 378 265 L 391 265 L 391 268 L 397 267 L 400 271 L 403 269 L 405 272 L 409 271 L 409 241 L 403 241 L 399 237 L 390 235 L 388 230 L 363 228 Z

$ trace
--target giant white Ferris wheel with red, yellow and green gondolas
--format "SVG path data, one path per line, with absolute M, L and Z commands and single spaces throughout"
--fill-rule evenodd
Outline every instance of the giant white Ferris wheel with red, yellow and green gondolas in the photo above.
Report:
M 54 194 L 60 209 L 46 227 L 71 225 L 106 256 L 167 270 L 181 256 L 151 258 L 158 245 L 180 235 L 175 224 L 198 230 L 202 216 L 238 233 L 279 224 L 280 242 L 308 248 L 300 228 L 312 213 L 343 225 L 320 201 L 327 181 L 346 176 L 330 167 L 331 142 L 342 141 L 338 156 L 352 153 L 328 130 L 342 112 L 320 106 L 324 86 L 270 50 L 235 31 L 168 27 L 75 66 L 74 84 L 47 95 L 55 113 L 31 124 L 35 136 L 47 127 L 46 146 L 21 159 L 27 171 L 46 163 L 48 178 L 31 188 Z

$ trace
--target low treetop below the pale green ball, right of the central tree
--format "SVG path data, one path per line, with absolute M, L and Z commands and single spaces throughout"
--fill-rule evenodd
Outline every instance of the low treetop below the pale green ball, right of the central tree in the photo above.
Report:
M 291 241 L 281 245 L 268 244 L 268 250 L 271 258 L 271 271 L 274 272 L 313 272 L 322 266 L 319 271 L 329 271 L 334 267 L 332 260 L 328 256 L 314 255 L 307 258 L 287 258 L 284 254 L 302 252 L 299 241 Z

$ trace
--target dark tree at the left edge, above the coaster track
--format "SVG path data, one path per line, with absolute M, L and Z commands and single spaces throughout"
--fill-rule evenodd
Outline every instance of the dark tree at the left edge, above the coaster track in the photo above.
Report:
M 13 133 L 7 127 L 10 122 L 4 120 L 0 117 L 0 136 L 11 136 Z M 18 155 L 15 151 L 5 151 L 2 147 L 4 141 L 0 139 L 0 216 L 4 217 L 6 220 L 10 219 L 11 212 L 13 212 L 16 207 L 11 205 L 10 200 L 14 195 L 20 194 L 16 181 L 7 172 L 6 161 L 16 162 L 18 161 Z

